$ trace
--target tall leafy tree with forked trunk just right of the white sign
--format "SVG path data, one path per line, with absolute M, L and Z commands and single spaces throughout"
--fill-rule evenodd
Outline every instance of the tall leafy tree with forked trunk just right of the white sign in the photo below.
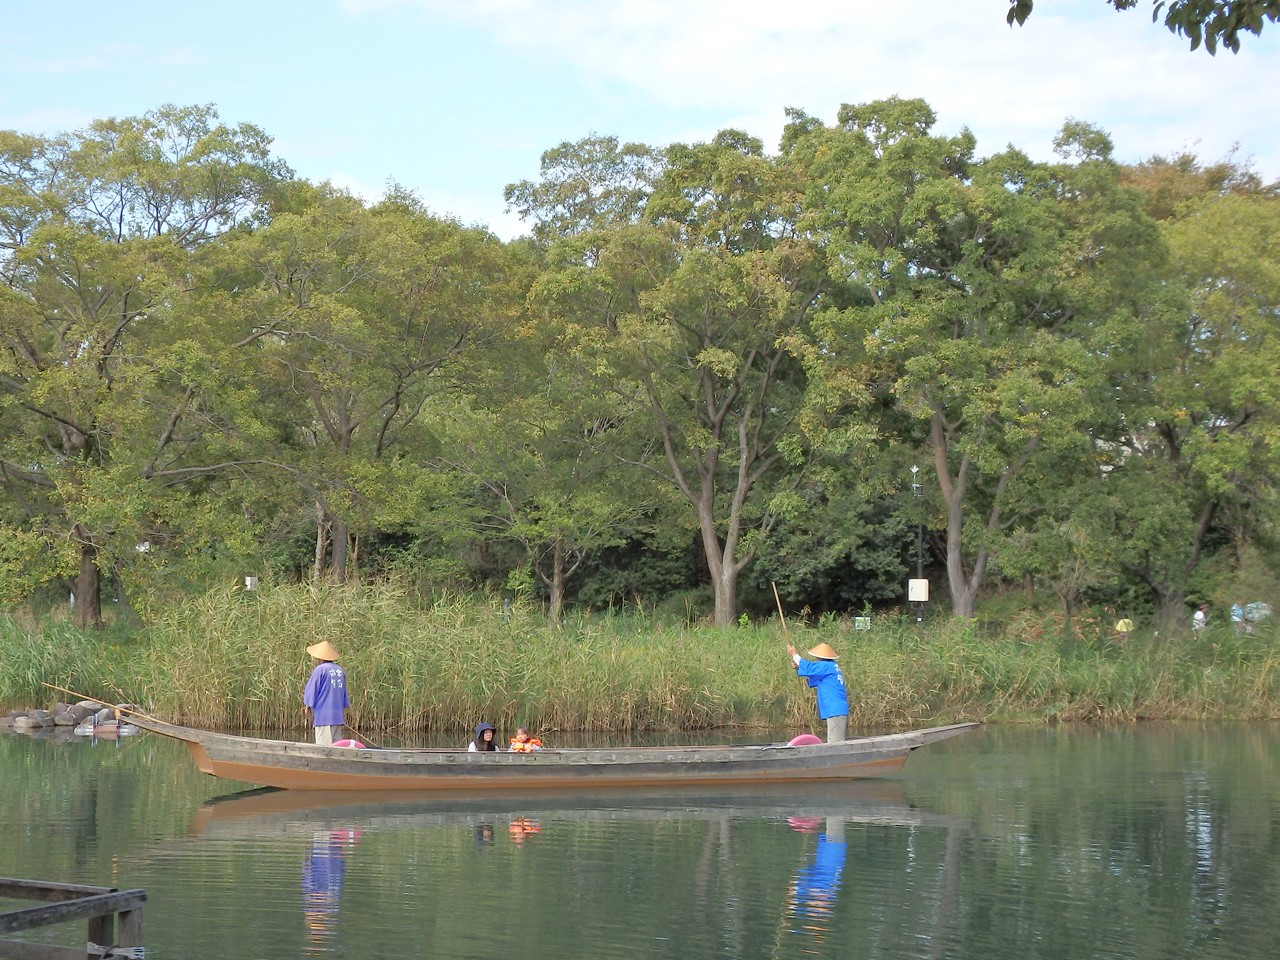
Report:
M 919 100 L 795 114 L 785 145 L 809 170 L 805 225 L 860 291 L 815 320 L 815 371 L 888 393 L 915 420 L 942 499 L 952 609 L 972 616 L 992 550 L 1024 512 L 1019 472 L 1079 447 L 1096 366 L 1085 343 L 1117 308 L 1125 251 L 1153 236 L 1115 186 L 1108 142 L 1079 127 L 1078 164 L 931 133 Z M 1108 287 L 1110 285 L 1110 287 Z

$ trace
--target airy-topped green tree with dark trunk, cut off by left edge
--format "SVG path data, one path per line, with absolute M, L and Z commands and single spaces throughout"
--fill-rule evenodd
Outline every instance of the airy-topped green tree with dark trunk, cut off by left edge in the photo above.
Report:
M 287 170 L 261 131 L 216 120 L 164 106 L 54 138 L 0 134 L 0 479 L 10 522 L 59 547 L 82 626 L 101 617 L 102 572 L 175 539 L 178 492 L 234 457 L 224 330 L 191 292 Z

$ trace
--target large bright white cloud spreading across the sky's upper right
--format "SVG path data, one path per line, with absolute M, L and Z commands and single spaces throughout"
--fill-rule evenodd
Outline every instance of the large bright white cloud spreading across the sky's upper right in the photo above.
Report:
M 1275 33 L 1243 52 L 1192 52 L 1144 9 L 1039 4 L 1024 27 L 995 0 L 344 0 L 357 13 L 417 9 L 468 22 L 529 64 L 556 63 L 671 111 L 695 108 L 777 142 L 783 108 L 832 119 L 841 102 L 925 99 L 940 131 L 969 127 L 979 152 L 1047 156 L 1068 118 L 1094 123 L 1137 160 L 1242 143 L 1280 177 Z M 705 131 L 710 136 L 714 131 Z M 585 133 L 585 131 L 584 131 Z M 621 136 L 626 137 L 625 132 Z

